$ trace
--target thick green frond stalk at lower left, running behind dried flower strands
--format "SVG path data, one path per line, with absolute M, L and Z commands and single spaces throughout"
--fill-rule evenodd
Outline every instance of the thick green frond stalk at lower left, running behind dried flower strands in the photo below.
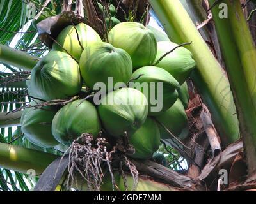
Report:
M 28 170 L 29 172 L 34 170 L 36 175 L 41 175 L 45 168 L 58 157 L 59 156 L 54 154 L 0 143 L 0 167 L 19 171 L 20 173 L 28 173 Z M 127 175 L 127 177 L 130 176 Z M 62 181 L 63 179 L 61 179 L 61 182 Z M 83 179 L 77 181 L 82 182 Z M 77 186 L 81 186 L 82 189 L 87 189 L 84 185 L 86 185 L 85 182 L 83 182 L 83 186 Z M 161 182 L 156 182 L 148 177 L 140 177 L 136 191 L 180 191 L 180 189 Z

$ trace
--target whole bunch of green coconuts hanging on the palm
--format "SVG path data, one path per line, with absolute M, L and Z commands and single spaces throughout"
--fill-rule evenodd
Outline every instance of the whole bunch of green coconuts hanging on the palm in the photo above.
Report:
M 163 125 L 177 137 L 184 133 L 185 81 L 195 68 L 191 52 L 180 47 L 159 61 L 177 45 L 157 42 L 157 33 L 142 24 L 116 24 L 108 42 L 89 25 L 65 27 L 51 52 L 33 68 L 26 81 L 35 100 L 31 105 L 80 98 L 65 106 L 27 108 L 21 124 L 29 141 L 41 147 L 68 147 L 83 133 L 96 140 L 103 131 L 114 141 L 127 137 L 134 147 L 129 156 L 150 159 L 160 139 L 170 138 Z M 92 97 L 81 98 L 84 87 Z

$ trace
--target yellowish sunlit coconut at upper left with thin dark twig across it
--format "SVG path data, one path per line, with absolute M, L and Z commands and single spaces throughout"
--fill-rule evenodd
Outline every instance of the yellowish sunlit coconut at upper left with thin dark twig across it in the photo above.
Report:
M 77 38 L 77 33 L 79 40 Z M 77 61 L 80 60 L 83 48 L 86 48 L 92 43 L 102 41 L 99 34 L 89 25 L 78 24 L 76 28 L 73 25 L 68 25 L 63 29 L 56 38 L 58 43 L 53 43 L 52 50 L 67 52 L 71 54 Z M 80 43 L 82 45 L 80 45 Z M 64 49 L 63 49 L 64 48 Z

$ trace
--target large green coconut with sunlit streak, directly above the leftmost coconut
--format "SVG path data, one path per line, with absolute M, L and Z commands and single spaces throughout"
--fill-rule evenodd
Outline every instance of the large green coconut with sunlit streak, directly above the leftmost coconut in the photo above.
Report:
M 67 99 L 81 90 L 77 62 L 65 52 L 49 52 L 31 71 L 27 80 L 29 94 L 46 101 Z

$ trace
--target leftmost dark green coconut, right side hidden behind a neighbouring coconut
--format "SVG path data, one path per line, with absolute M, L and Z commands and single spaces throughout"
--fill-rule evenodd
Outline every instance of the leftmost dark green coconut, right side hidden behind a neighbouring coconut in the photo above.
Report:
M 30 105 L 36 105 L 31 102 Z M 20 119 L 21 130 L 29 142 L 39 147 L 54 147 L 58 145 L 52 135 L 52 119 L 58 109 L 53 106 L 44 106 L 43 108 L 26 108 L 22 112 Z

